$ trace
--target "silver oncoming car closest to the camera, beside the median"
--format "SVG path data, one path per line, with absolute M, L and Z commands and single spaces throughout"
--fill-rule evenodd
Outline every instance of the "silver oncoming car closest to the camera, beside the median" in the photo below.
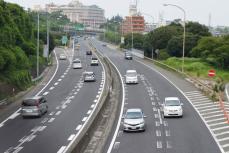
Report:
M 145 117 L 140 108 L 127 109 L 123 117 L 123 131 L 145 131 Z

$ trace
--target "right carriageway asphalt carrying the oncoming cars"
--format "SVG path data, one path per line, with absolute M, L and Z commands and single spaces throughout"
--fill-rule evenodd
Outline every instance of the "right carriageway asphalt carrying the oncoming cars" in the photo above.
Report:
M 148 116 L 145 133 L 123 133 L 122 127 L 115 138 L 112 153 L 219 153 L 220 150 L 210 132 L 185 97 L 160 74 L 140 64 L 124 60 L 116 52 L 100 43 L 93 44 L 118 67 L 122 76 L 127 69 L 140 74 L 138 85 L 126 86 L 125 109 L 140 107 Z M 165 97 L 177 96 L 184 103 L 183 118 L 161 117 L 161 105 Z M 110 140 L 112 139 L 111 136 Z

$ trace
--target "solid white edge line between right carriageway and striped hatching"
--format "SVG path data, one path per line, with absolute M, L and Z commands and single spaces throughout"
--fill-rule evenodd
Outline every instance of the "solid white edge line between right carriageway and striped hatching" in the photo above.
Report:
M 201 116 L 201 114 L 198 112 L 198 110 L 195 108 L 195 106 L 192 104 L 192 102 L 190 101 L 190 99 L 185 95 L 185 93 L 178 87 L 176 86 L 172 81 L 170 81 L 165 75 L 163 75 L 161 72 L 159 72 L 158 70 L 152 68 L 151 66 L 136 60 L 137 62 L 145 65 L 146 67 L 148 67 L 149 69 L 151 69 L 154 72 L 157 72 L 158 74 L 160 74 L 162 77 L 164 77 L 171 85 L 173 85 L 180 93 L 182 93 L 185 98 L 189 101 L 189 103 L 193 106 L 193 108 L 196 110 L 197 114 L 199 114 L 200 118 L 202 119 L 202 121 L 204 122 L 204 124 L 206 125 L 206 127 L 208 128 L 209 132 L 211 133 L 212 137 L 214 138 L 216 144 L 218 145 L 219 149 L 221 152 L 224 152 L 223 148 L 221 147 L 221 145 L 219 144 L 219 142 L 217 141 L 217 138 L 215 137 L 214 133 L 211 131 L 211 129 L 209 128 L 209 126 L 207 125 L 207 123 L 205 122 L 204 118 Z

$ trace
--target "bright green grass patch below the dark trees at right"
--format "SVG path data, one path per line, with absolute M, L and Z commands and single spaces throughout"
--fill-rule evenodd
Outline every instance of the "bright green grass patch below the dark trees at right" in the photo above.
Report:
M 171 57 L 162 62 L 175 69 L 181 70 L 181 66 L 182 66 L 181 58 Z M 214 80 L 216 80 L 217 78 L 222 78 L 224 82 L 229 82 L 229 70 L 223 70 L 217 67 L 213 67 L 199 58 L 185 58 L 184 71 L 185 73 L 193 77 L 210 80 L 212 79 L 208 76 L 208 71 L 210 69 L 214 69 L 216 71 L 216 76 L 213 77 Z

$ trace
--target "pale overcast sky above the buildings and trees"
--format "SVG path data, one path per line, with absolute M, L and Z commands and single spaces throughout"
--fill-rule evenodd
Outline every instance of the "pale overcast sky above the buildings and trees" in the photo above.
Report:
M 68 4 L 71 0 L 5 0 L 17 3 L 25 8 L 32 8 L 34 5 L 54 2 L 56 4 Z M 105 16 L 112 17 L 116 14 L 128 15 L 128 8 L 131 0 L 80 0 L 83 4 L 96 4 L 105 9 Z M 138 0 L 138 10 L 150 14 L 158 22 L 159 14 L 164 20 L 183 18 L 183 13 L 171 6 L 164 7 L 164 3 L 176 4 L 186 11 L 186 18 L 189 21 L 198 21 L 202 24 L 209 24 L 211 14 L 211 26 L 229 26 L 229 0 Z M 151 22 L 153 19 L 145 16 Z

